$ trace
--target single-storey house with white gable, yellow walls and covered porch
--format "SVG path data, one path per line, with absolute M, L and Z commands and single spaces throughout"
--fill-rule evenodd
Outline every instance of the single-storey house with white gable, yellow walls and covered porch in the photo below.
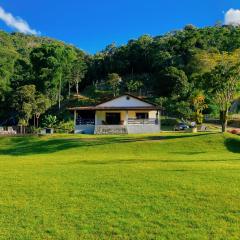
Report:
M 74 107 L 75 133 L 131 134 L 160 131 L 160 109 L 130 94 L 88 107 Z

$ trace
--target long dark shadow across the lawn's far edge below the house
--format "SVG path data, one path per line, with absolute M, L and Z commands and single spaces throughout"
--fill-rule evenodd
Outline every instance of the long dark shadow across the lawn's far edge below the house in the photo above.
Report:
M 58 151 L 68 150 L 79 147 L 95 147 L 98 145 L 163 141 L 171 139 L 184 139 L 201 137 L 215 133 L 204 134 L 181 134 L 170 136 L 113 136 L 99 138 L 42 138 L 42 137 L 10 137 L 7 144 L 0 145 L 0 155 L 25 156 L 33 154 L 49 154 Z M 2 138 L 4 140 L 4 138 Z

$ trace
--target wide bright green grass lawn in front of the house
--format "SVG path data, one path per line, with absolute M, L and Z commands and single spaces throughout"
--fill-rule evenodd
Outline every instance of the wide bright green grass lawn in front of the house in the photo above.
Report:
M 0 239 L 240 239 L 240 137 L 0 138 Z

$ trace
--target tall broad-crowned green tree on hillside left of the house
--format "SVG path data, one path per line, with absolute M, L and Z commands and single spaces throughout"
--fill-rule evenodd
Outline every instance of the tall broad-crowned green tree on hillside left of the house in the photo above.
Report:
M 62 86 L 67 83 L 65 70 L 75 60 L 75 51 L 63 44 L 44 44 L 35 48 L 30 57 L 37 90 L 49 95 L 53 102 L 58 100 L 60 109 Z

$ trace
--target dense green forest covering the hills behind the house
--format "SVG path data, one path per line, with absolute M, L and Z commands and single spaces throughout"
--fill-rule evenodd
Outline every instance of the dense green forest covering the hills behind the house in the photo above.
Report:
M 46 114 L 129 92 L 172 116 L 225 119 L 238 99 L 240 28 L 215 26 L 110 44 L 90 55 L 50 38 L 0 32 L 0 125 L 37 125 Z M 234 104 L 234 111 L 238 111 Z

